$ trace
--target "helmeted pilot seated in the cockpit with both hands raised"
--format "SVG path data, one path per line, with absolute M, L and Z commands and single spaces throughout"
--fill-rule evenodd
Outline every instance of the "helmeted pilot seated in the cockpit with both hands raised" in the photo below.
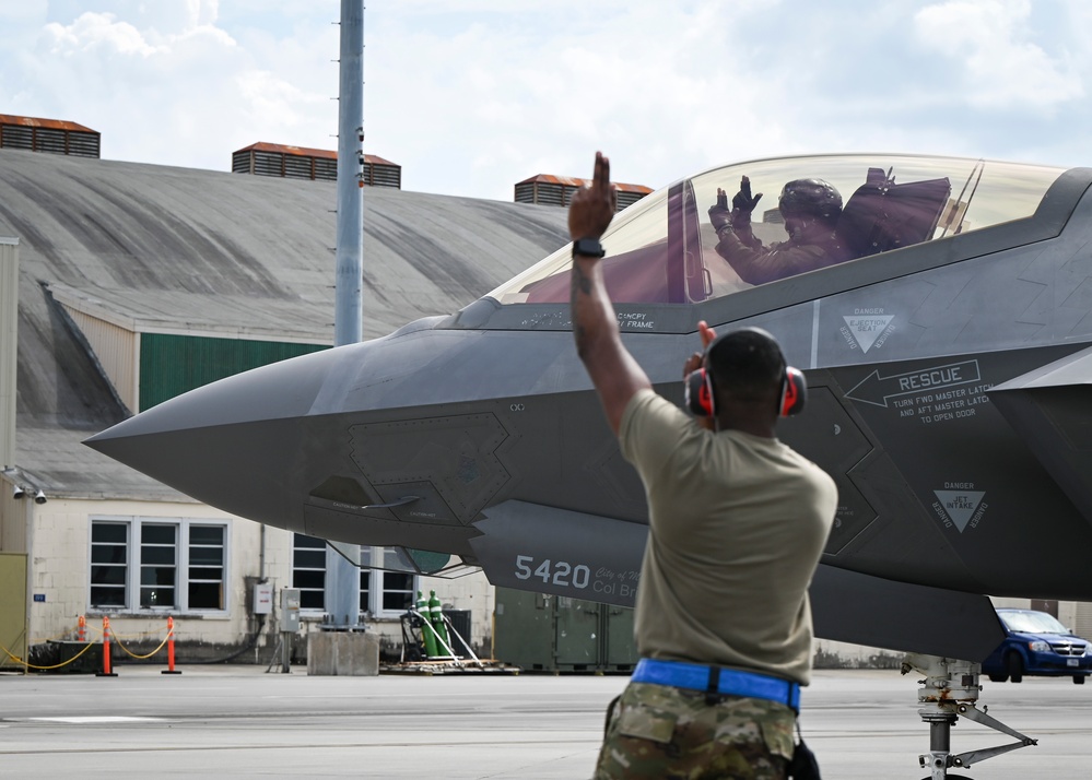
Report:
M 728 209 L 728 194 L 717 188 L 709 221 L 717 232 L 717 253 L 750 284 L 764 284 L 849 259 L 834 233 L 842 216 L 842 196 L 822 179 L 795 179 L 785 185 L 777 209 L 789 239 L 768 247 L 751 231 L 751 212 L 762 193 L 751 197 L 743 177 Z

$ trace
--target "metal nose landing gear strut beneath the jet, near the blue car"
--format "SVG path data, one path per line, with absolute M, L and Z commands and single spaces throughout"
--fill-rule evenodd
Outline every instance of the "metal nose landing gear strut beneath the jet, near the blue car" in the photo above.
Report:
M 948 770 L 952 767 L 964 769 L 972 764 L 984 761 L 1018 747 L 1038 744 L 1037 740 L 1032 740 L 1019 731 L 1010 729 L 996 718 L 986 714 L 985 709 L 979 710 L 975 706 L 978 693 L 982 690 L 982 686 L 978 685 L 982 664 L 938 655 L 909 653 L 903 661 L 902 672 L 907 674 L 911 671 L 925 675 L 925 679 L 918 683 L 920 687 L 917 692 L 917 702 L 921 707 L 918 714 L 921 716 L 921 720 L 929 724 L 929 752 L 918 756 L 918 761 L 920 761 L 921 768 L 929 769 L 931 775 L 924 780 L 955 780 L 955 778 L 970 780 L 963 775 L 949 775 Z M 952 726 L 961 716 L 995 731 L 1014 736 L 1019 742 L 952 755 Z

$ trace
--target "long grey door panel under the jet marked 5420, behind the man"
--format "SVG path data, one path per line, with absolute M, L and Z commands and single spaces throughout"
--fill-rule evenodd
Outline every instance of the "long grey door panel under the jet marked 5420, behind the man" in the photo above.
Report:
M 494 584 L 634 605 L 647 525 L 517 500 L 485 515 L 470 545 Z M 810 599 L 823 639 L 971 661 L 1005 639 L 984 595 L 820 565 Z

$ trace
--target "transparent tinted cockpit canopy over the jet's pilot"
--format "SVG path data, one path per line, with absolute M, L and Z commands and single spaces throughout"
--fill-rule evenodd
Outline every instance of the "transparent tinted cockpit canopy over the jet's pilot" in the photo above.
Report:
M 717 252 L 708 217 L 717 188 L 729 199 L 748 176 L 766 194 L 753 214 L 765 246 L 788 240 L 777 193 L 790 180 L 822 179 L 843 198 L 835 236 L 847 262 L 954 238 L 1035 213 L 1062 168 L 958 157 L 852 154 L 782 157 L 714 168 L 647 196 L 619 213 L 602 237 L 614 303 L 688 304 L 748 289 Z M 567 303 L 566 246 L 489 294 L 502 305 Z M 821 272 L 821 271 L 818 271 Z M 776 280 L 775 280 L 776 281 Z

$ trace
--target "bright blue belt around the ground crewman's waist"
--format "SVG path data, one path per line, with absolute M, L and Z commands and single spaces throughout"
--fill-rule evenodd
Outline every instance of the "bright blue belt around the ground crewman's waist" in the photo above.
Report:
M 643 658 L 630 679 L 634 683 L 670 685 L 709 695 L 747 696 L 768 699 L 800 711 L 800 684 L 758 672 L 706 666 L 684 661 L 660 661 Z

